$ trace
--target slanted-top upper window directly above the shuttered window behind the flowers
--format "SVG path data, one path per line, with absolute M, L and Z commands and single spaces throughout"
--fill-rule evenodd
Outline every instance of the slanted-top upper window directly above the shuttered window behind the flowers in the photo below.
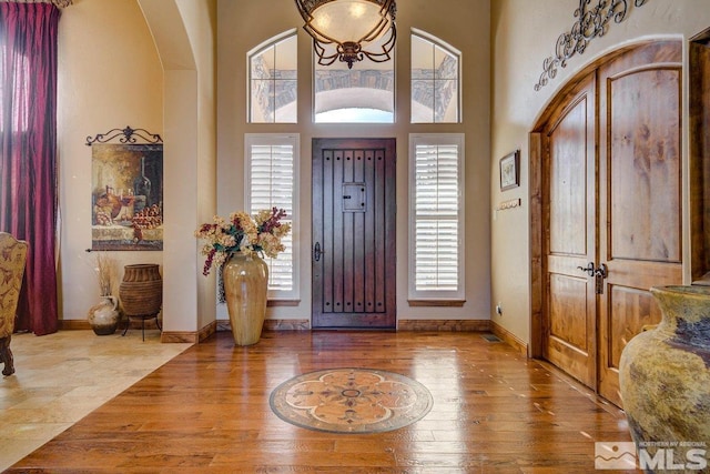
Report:
M 247 53 L 250 123 L 296 123 L 296 47 L 293 29 Z

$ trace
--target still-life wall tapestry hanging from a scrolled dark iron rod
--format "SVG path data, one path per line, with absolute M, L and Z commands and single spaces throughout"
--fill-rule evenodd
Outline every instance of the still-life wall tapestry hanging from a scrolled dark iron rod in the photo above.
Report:
M 118 143 L 108 143 L 116 138 Z M 87 145 L 92 158 L 91 250 L 163 250 L 160 135 L 126 127 L 89 137 Z

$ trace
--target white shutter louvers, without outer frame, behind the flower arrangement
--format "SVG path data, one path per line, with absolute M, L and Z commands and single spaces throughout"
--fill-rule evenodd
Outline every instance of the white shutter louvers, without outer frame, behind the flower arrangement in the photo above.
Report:
M 294 213 L 294 145 L 255 144 L 248 148 L 248 202 L 250 213 L 278 208 L 286 211 L 282 222 L 293 224 Z M 276 259 L 265 259 L 268 264 L 268 290 L 291 292 L 293 281 L 293 232 L 282 243 L 286 250 Z

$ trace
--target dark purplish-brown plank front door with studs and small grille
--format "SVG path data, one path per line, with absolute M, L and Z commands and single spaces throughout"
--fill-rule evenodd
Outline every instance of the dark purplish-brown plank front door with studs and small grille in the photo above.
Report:
M 314 329 L 396 326 L 395 147 L 313 140 Z

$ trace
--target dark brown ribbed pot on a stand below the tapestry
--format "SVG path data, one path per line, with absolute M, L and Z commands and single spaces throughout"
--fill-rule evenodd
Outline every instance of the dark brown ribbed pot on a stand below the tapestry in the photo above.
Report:
M 119 288 L 126 316 L 154 316 L 163 305 L 163 280 L 155 263 L 125 265 Z

